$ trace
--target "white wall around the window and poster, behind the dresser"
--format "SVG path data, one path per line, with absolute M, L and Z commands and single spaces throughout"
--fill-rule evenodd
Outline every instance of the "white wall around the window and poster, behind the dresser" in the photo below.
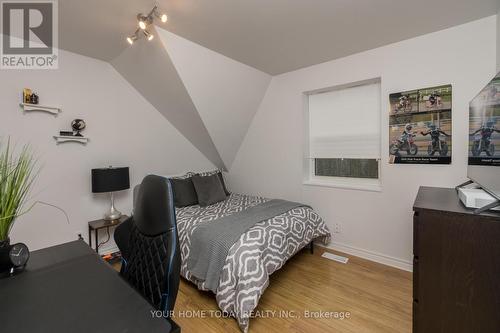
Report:
M 309 203 L 331 231 L 335 223 L 342 226 L 330 246 L 411 269 L 418 187 L 466 179 L 468 103 L 495 74 L 496 29 L 492 16 L 274 77 L 230 170 L 232 189 Z M 382 192 L 302 185 L 302 93 L 376 77 L 382 82 Z M 389 165 L 389 94 L 447 83 L 453 85 L 452 165 Z

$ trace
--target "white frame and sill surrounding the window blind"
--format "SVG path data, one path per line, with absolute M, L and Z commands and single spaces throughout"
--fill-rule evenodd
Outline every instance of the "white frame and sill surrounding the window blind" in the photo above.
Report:
M 303 181 L 302 184 L 306 186 L 319 186 L 319 187 L 330 187 L 330 188 L 340 188 L 340 189 L 352 189 L 352 190 L 362 190 L 369 192 L 381 192 L 382 191 L 382 167 L 381 167 L 381 157 L 377 158 L 378 161 L 378 178 L 355 178 L 355 177 L 334 177 L 334 176 L 316 176 L 315 174 L 315 159 L 311 158 L 309 155 L 309 96 L 318 93 L 326 93 L 335 90 L 342 90 L 347 88 L 352 88 L 356 86 L 369 85 L 369 84 L 380 84 L 382 86 L 382 80 L 380 77 L 357 81 L 347 84 L 341 84 L 336 86 L 331 86 L 327 88 L 321 88 L 311 91 L 303 92 L 303 110 L 304 110 L 304 163 L 303 163 Z M 381 96 L 382 97 L 382 96 Z M 380 130 L 380 154 L 382 155 L 382 104 L 383 99 L 380 99 L 381 105 L 379 105 L 379 130 Z

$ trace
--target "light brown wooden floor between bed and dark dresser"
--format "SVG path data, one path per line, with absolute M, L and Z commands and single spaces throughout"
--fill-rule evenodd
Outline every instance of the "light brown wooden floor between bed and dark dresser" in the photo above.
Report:
M 249 333 L 411 332 L 411 273 L 353 256 L 347 264 L 337 263 L 322 258 L 324 251 L 316 247 L 314 255 L 308 250 L 295 255 L 271 276 L 260 299 L 259 313 L 293 311 L 295 318 L 252 318 Z M 233 318 L 187 318 L 191 311 L 203 313 L 198 310 L 218 311 L 215 296 L 182 279 L 174 320 L 183 333 L 240 332 Z M 350 318 L 305 318 L 305 310 L 349 312 Z

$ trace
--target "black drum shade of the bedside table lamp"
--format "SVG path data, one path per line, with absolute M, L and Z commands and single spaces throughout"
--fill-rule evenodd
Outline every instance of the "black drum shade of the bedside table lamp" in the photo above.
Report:
M 115 192 L 130 188 L 128 167 L 92 169 L 92 192 Z

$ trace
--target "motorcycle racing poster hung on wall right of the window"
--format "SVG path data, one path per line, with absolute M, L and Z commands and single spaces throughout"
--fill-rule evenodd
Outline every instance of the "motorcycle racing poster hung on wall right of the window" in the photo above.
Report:
M 451 85 L 389 95 L 389 163 L 451 163 Z

